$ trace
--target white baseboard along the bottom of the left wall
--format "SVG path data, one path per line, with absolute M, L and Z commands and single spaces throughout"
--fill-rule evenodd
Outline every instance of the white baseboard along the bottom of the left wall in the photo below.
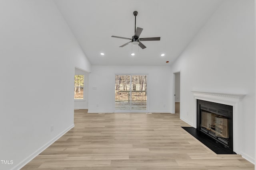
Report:
M 23 166 L 28 164 L 32 159 L 34 159 L 38 154 L 40 154 L 42 151 L 44 151 L 46 148 L 48 148 L 50 145 L 52 145 L 55 141 L 57 141 L 60 137 L 62 137 L 65 133 L 67 133 L 70 129 L 72 129 L 75 125 L 72 124 L 70 127 L 65 129 L 62 133 L 54 137 L 52 140 L 50 140 L 48 143 L 40 147 L 38 150 L 36 150 L 34 153 L 32 153 L 30 156 L 22 160 L 20 163 L 18 163 L 16 166 L 14 166 L 11 170 L 20 170 Z

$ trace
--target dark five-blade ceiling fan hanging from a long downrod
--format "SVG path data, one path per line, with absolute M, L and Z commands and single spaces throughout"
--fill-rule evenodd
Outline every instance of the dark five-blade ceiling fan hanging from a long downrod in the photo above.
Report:
M 122 38 L 122 39 L 130 39 L 131 40 L 128 43 L 121 45 L 120 47 L 124 47 L 124 46 L 132 43 L 132 45 L 139 45 L 140 48 L 144 49 L 144 48 L 146 48 L 146 46 L 144 44 L 142 44 L 140 41 L 159 41 L 160 40 L 160 37 L 139 38 L 143 28 L 137 27 L 137 29 L 136 29 L 136 16 L 138 15 L 138 12 L 134 11 L 133 15 L 135 16 L 135 27 L 134 27 L 134 36 L 132 36 L 132 38 L 118 37 L 118 36 L 114 36 L 114 35 L 111 36 L 114 38 Z

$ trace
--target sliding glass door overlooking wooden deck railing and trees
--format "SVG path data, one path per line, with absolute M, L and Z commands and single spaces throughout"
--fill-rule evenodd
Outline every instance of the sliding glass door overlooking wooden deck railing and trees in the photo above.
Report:
M 115 112 L 147 111 L 147 75 L 115 75 Z

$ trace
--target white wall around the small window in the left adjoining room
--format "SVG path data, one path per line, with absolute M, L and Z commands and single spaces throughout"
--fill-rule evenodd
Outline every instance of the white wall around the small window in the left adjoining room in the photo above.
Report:
M 88 109 L 89 73 L 75 68 L 75 75 L 84 75 L 84 99 L 74 100 L 74 109 Z

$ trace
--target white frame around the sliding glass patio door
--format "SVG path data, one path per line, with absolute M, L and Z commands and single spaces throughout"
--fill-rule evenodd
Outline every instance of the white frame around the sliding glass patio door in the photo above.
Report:
M 141 75 L 146 75 L 147 76 L 147 102 L 146 102 L 146 110 L 116 110 L 116 96 L 115 96 L 115 91 L 116 91 L 116 75 L 130 75 L 130 76 L 141 76 Z M 148 110 L 149 110 L 149 75 L 148 74 L 125 74 L 125 73 L 122 73 L 122 74 L 114 74 L 114 91 L 113 91 L 113 101 L 114 101 L 114 104 L 113 104 L 113 113 L 147 113 Z M 131 83 L 131 81 L 130 81 Z M 132 87 L 130 87 L 130 90 L 132 89 Z

